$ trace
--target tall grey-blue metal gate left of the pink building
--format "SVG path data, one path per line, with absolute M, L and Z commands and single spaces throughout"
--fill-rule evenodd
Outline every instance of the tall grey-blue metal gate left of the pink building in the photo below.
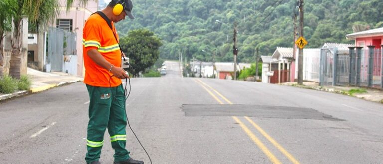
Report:
M 49 28 L 47 39 L 48 55 L 46 63 L 50 64 L 50 71 L 62 71 L 64 62 L 64 30 Z

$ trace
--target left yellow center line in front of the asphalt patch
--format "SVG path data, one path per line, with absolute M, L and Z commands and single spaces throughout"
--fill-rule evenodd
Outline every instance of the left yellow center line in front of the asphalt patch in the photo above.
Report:
M 282 164 L 265 145 L 255 136 L 249 128 L 246 127 L 237 117 L 232 117 L 237 123 L 242 127 L 242 129 L 247 133 L 247 135 L 257 144 L 257 146 L 262 150 L 262 152 L 270 159 L 273 164 Z

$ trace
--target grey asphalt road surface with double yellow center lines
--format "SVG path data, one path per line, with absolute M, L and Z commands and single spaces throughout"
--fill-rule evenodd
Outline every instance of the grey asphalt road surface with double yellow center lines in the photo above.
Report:
M 127 100 L 130 124 L 154 164 L 383 161 L 383 104 L 293 86 L 181 78 L 177 62 L 166 65 L 161 78 L 132 78 Z M 84 163 L 88 93 L 82 82 L 59 86 L 0 103 L 0 164 Z M 101 162 L 111 164 L 107 133 L 104 139 Z M 127 139 L 132 157 L 149 164 L 130 129 Z

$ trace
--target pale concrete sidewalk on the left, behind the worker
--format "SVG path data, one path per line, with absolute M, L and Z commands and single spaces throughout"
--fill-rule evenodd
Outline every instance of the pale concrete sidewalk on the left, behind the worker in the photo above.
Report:
M 83 80 L 82 77 L 77 77 L 64 72 L 46 73 L 31 68 L 28 68 L 28 77 L 32 81 L 32 85 L 29 90 L 17 91 L 11 94 L 0 93 L 0 101 Z

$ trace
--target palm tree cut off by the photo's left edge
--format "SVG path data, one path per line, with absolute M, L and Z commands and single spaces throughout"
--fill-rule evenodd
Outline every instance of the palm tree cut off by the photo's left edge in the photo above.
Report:
M 6 31 L 11 30 L 11 10 L 10 10 L 10 1 L 9 0 L 1 0 L 0 1 L 0 78 L 3 76 L 4 72 L 4 52 L 3 52 L 3 47 L 4 47 L 4 34 Z

